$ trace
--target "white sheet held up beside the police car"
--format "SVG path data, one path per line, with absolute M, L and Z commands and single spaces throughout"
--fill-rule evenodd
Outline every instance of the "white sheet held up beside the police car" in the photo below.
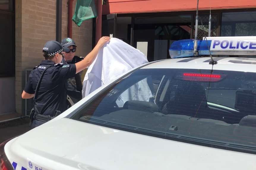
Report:
M 115 79 L 117 76 L 145 63 L 148 63 L 147 57 L 138 49 L 118 38 L 111 38 L 110 42 L 106 43 L 100 49 L 97 58 L 86 72 L 83 81 L 82 97 L 84 98 L 100 86 Z M 146 81 L 146 79 L 143 81 Z M 140 81 L 139 83 L 144 84 L 145 82 L 143 81 Z M 134 96 L 133 100 L 138 99 L 144 101 L 148 100 L 149 97 L 152 97 L 149 87 L 143 87 L 143 95 L 145 95 L 145 92 L 148 93 L 146 99 L 145 96 L 135 95 L 138 91 L 141 91 L 140 85 L 134 85 L 134 87 L 129 88 L 123 95 L 134 93 L 132 95 Z M 129 98 L 125 96 L 124 98 L 125 99 L 123 100 L 121 97 L 118 101 L 124 103 L 129 100 Z M 120 106 L 122 105 L 121 103 Z

